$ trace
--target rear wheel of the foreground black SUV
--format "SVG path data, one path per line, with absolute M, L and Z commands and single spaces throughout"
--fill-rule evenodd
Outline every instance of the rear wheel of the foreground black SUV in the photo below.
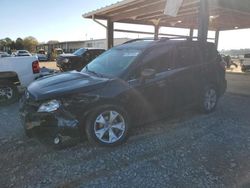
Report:
M 218 99 L 216 87 L 214 85 L 206 86 L 201 97 L 201 111 L 206 114 L 212 113 L 217 107 Z

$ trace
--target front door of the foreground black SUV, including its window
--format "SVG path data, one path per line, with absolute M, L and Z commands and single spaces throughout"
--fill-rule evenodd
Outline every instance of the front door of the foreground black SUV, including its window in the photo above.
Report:
M 132 106 L 137 109 L 137 116 L 142 116 L 143 120 L 154 119 L 163 114 L 167 114 L 172 108 L 172 85 L 169 82 L 171 77 L 172 51 L 167 47 L 159 46 L 151 49 L 139 62 L 136 69 L 136 78 L 129 80 L 129 84 L 134 90 L 136 97 L 132 101 Z M 154 69 L 155 76 L 144 81 L 141 80 L 140 73 L 145 69 Z

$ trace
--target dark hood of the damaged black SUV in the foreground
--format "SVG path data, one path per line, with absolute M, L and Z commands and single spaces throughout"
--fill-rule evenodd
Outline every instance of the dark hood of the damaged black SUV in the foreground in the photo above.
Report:
M 38 79 L 28 86 L 28 92 L 35 100 L 55 99 L 73 93 L 100 89 L 108 81 L 108 78 L 71 71 Z

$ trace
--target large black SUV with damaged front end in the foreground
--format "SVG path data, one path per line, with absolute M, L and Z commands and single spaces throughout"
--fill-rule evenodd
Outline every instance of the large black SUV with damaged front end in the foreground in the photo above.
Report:
M 33 82 L 21 102 L 28 135 L 46 129 L 55 144 L 87 135 L 105 146 L 122 143 L 132 125 L 188 106 L 215 110 L 226 89 L 225 67 L 214 44 L 133 41 L 114 47 L 81 72 Z

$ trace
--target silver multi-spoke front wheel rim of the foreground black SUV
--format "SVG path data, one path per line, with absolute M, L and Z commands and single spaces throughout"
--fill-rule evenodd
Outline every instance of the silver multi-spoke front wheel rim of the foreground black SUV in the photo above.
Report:
M 116 111 L 101 113 L 95 120 L 94 132 L 96 137 L 105 143 L 115 143 L 126 129 L 124 118 Z

